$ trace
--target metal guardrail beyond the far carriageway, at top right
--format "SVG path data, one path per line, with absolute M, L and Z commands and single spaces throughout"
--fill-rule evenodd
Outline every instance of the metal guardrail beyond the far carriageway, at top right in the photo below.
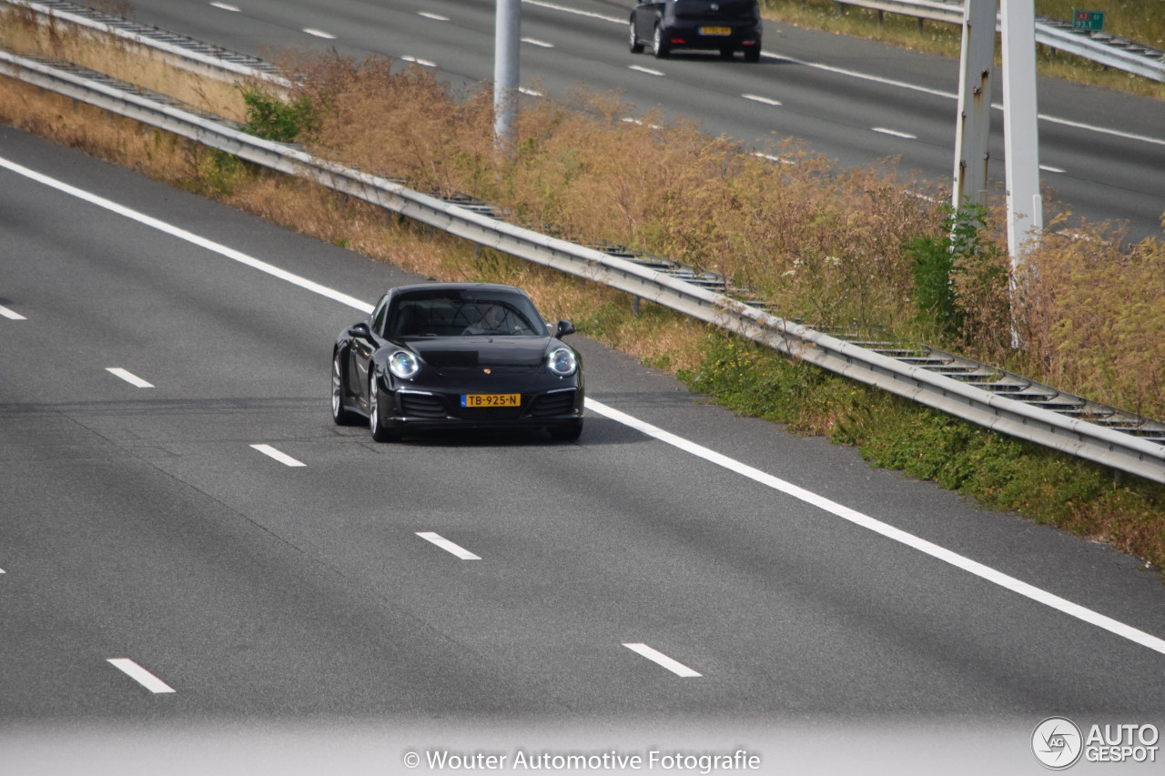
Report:
M 948 24 L 962 23 L 963 3 L 961 1 L 838 0 L 838 3 Z M 1101 31 L 1073 29 L 1071 23 L 1051 16 L 1036 16 L 1036 42 L 1107 68 L 1116 68 L 1143 78 L 1165 82 L 1165 51 L 1143 43 L 1135 43 Z

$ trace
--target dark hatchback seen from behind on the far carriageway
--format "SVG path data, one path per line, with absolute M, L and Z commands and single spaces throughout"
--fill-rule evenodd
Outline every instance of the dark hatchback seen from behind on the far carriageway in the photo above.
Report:
M 719 51 L 729 58 L 744 52 L 761 59 L 761 9 L 756 0 L 656 0 L 631 12 L 628 34 L 631 54 L 650 45 L 656 57 L 677 49 Z

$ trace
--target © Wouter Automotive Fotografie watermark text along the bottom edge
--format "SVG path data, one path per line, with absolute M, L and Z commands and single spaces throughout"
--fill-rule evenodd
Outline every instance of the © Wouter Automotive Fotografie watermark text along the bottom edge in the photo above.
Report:
M 403 755 L 408 768 L 428 770 L 543 770 L 543 771 L 600 771 L 643 770 L 684 773 L 708 776 L 719 771 L 760 770 L 761 755 L 736 749 L 734 752 L 678 752 L 648 749 L 644 752 L 454 752 L 447 749 L 410 750 Z

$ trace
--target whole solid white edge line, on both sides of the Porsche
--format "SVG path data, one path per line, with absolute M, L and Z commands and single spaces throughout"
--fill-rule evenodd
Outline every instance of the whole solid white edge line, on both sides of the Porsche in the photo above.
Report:
M 267 273 L 268 275 L 271 275 L 274 277 L 278 277 L 280 280 L 287 281 L 288 283 L 291 283 L 294 285 L 298 285 L 299 288 L 306 289 L 313 294 L 318 294 L 329 299 L 339 302 L 340 304 L 345 304 L 354 310 L 363 312 L 365 315 L 369 315 L 373 311 L 373 305 L 368 304 L 367 302 L 362 302 L 353 296 L 348 296 L 347 294 L 337 291 L 336 289 L 329 288 L 315 281 L 310 281 L 305 277 L 301 277 L 299 275 L 289 273 L 285 269 L 275 267 L 274 264 L 259 261 L 257 259 L 248 256 L 245 253 L 241 253 L 233 248 L 227 248 L 224 245 L 198 237 L 192 232 L 179 230 L 178 227 L 171 226 L 165 221 L 146 216 L 143 213 L 139 213 L 137 211 L 125 207 L 123 205 L 119 205 L 114 202 L 105 199 L 104 197 L 98 197 L 97 195 L 83 191 L 82 189 L 71 186 L 55 178 L 50 178 L 47 175 L 42 175 L 41 172 L 30 170 L 27 167 L 16 164 L 15 162 L 12 162 L 7 158 L 0 157 L 0 167 L 12 170 L 13 172 L 22 175 L 31 181 L 43 183 L 47 186 L 51 186 L 58 191 L 62 191 L 70 196 L 89 202 L 93 205 L 97 205 L 98 207 L 103 207 L 120 216 L 125 216 L 126 218 L 133 219 L 140 224 L 149 226 L 150 228 L 165 232 L 167 234 L 176 237 L 179 240 L 185 240 L 193 245 L 200 246 L 207 251 L 226 256 L 233 261 L 238 261 L 239 263 L 246 264 L 262 273 Z M 669 433 L 668 431 L 664 431 L 663 429 L 654 426 L 649 423 L 644 423 L 643 421 L 640 421 L 638 418 L 627 415 L 626 412 L 620 412 L 619 410 L 607 407 L 606 404 L 602 404 L 601 402 L 598 402 L 593 398 L 586 400 L 586 407 L 591 411 L 598 415 L 602 415 L 603 417 L 615 421 L 616 423 L 622 423 L 623 425 L 636 429 L 637 431 L 645 433 L 650 437 L 654 437 L 656 439 L 659 439 L 661 442 L 685 450 L 718 466 L 723 466 L 725 468 L 742 474 L 743 477 L 748 477 L 749 479 L 756 482 L 760 482 L 774 489 L 786 493 L 806 503 L 819 507 L 820 509 L 829 512 L 836 515 L 838 517 L 841 517 L 842 520 L 847 520 L 856 525 L 861 525 L 862 528 L 867 528 L 876 534 L 881 534 L 882 536 L 891 541 L 905 544 L 906 546 L 918 550 L 919 552 L 924 552 L 938 560 L 942 560 L 944 563 L 948 563 L 958 569 L 962 569 L 963 571 L 975 574 L 981 579 L 986 579 L 987 581 L 990 581 L 1001 587 L 1010 590 L 1014 593 L 1018 593 L 1019 595 L 1029 598 L 1038 604 L 1043 604 L 1044 606 L 1057 609 L 1058 612 L 1067 614 L 1068 616 L 1076 618 L 1078 620 L 1088 622 L 1090 625 L 1096 626 L 1097 628 L 1102 628 L 1111 634 L 1121 636 L 1122 639 L 1128 639 L 1129 641 L 1141 644 L 1142 647 L 1148 647 L 1153 651 L 1165 655 L 1165 640 L 1163 639 L 1152 636 L 1148 633 L 1144 633 L 1143 630 L 1137 630 L 1136 628 L 1127 626 L 1123 622 L 1104 616 L 1103 614 L 1100 614 L 1097 612 L 1093 612 L 1092 609 L 1085 608 L 1078 604 L 1073 604 L 1072 601 L 1062 599 L 1058 595 L 1053 595 L 1052 593 L 1043 591 L 1036 587 L 1035 585 L 1029 585 L 1025 581 L 1022 581 L 1014 577 L 1009 577 L 1000 571 L 991 569 L 990 566 L 986 566 L 969 558 L 965 558 L 961 555 L 958 555 L 955 552 L 952 552 L 951 550 L 947 550 L 937 544 L 922 539 L 917 536 L 913 536 L 912 534 L 908 534 L 906 531 L 894 528 L 892 525 L 888 525 L 877 520 L 874 520 L 873 517 L 863 515 L 862 513 L 850 509 L 849 507 L 843 507 L 842 505 L 836 503 L 835 501 L 831 501 L 825 496 L 820 496 L 816 493 L 812 493 L 811 491 L 806 491 L 805 488 L 792 485 L 791 482 L 786 482 L 777 477 L 772 477 L 771 474 L 767 474 L 765 472 L 753 468 L 751 466 L 747 466 L 740 461 L 733 460 L 727 456 L 708 450 L 707 447 L 697 445 L 696 443 L 683 439 L 682 437 L 677 437 L 676 435 Z

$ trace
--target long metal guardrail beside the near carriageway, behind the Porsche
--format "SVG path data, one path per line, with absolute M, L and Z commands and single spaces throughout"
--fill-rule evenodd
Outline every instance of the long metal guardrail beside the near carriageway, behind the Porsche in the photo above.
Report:
M 728 290 L 722 278 L 694 276 L 668 260 L 663 260 L 665 266 L 661 266 L 657 260 L 642 260 L 615 249 L 587 248 L 538 234 L 499 220 L 488 211 L 481 212 L 481 203 L 468 203 L 473 206 L 464 207 L 412 191 L 398 181 L 322 160 L 295 146 L 248 135 L 235 126 L 183 110 L 172 101 L 158 101 L 141 90 L 107 77 L 2 51 L 0 75 L 189 137 L 269 169 L 316 181 L 476 245 L 656 302 L 972 423 L 1165 482 L 1165 424 L 1156 421 L 1086 402 L 1018 375 L 933 348 L 899 352 L 899 346 L 894 343 L 846 341 L 842 337 L 774 316 L 758 304 L 712 290 Z M 1017 401 L 1019 395 L 1030 402 Z M 1106 421 L 1116 424 L 1116 428 L 1106 428 Z M 1127 430 L 1148 438 L 1116 430 L 1122 424 L 1129 426 Z M 1157 437 L 1160 437 L 1159 442 Z

